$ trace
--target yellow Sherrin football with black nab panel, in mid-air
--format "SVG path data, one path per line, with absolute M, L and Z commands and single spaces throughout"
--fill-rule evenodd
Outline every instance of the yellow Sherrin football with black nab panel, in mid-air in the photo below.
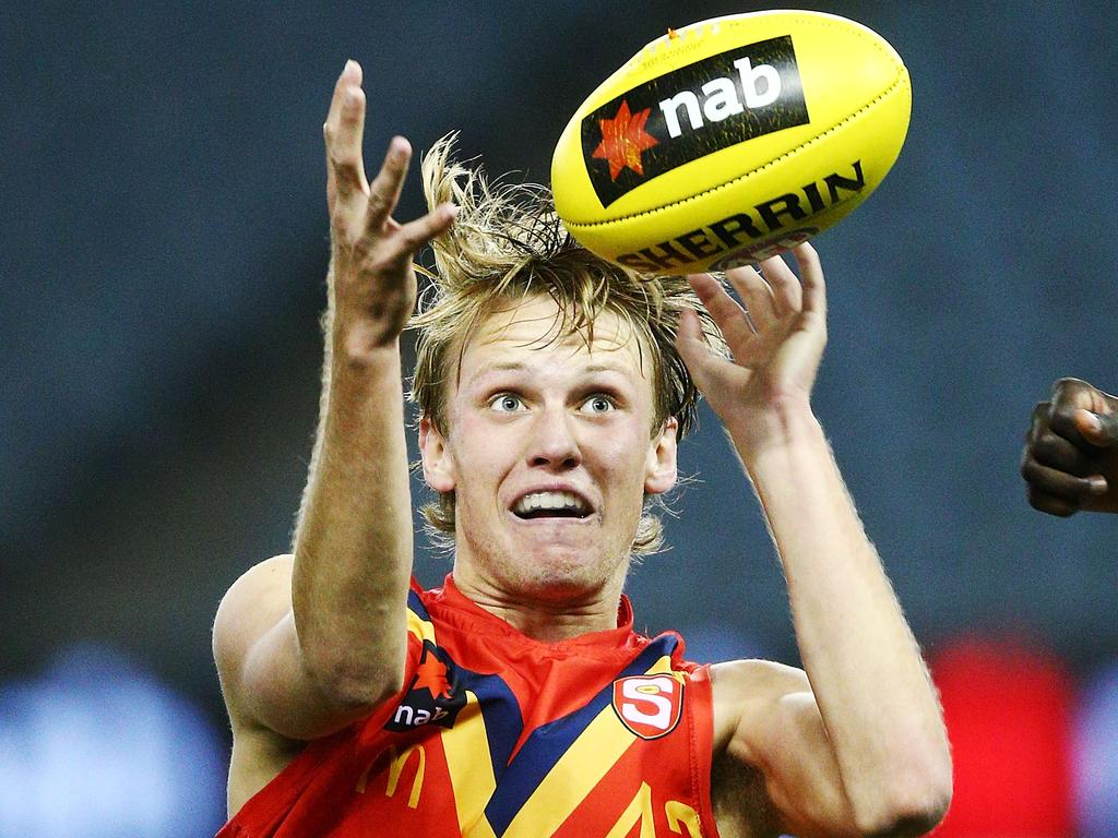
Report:
M 756 263 L 865 200 L 911 106 L 900 56 L 845 18 L 762 11 L 669 30 L 563 130 L 556 210 L 581 245 L 637 270 Z

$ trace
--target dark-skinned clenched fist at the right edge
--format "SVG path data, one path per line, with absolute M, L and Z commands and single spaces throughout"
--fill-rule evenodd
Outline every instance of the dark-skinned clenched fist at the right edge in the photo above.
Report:
M 1118 398 L 1079 379 L 1057 381 L 1033 408 L 1021 475 L 1041 512 L 1118 512 Z

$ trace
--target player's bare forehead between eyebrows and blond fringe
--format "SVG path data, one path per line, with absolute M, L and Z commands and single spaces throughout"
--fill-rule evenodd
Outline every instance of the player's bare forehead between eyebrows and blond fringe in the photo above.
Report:
M 484 314 L 467 336 L 458 379 L 463 384 L 490 369 L 603 366 L 647 379 L 648 352 L 643 336 L 615 312 L 594 320 L 594 340 L 574 331 L 549 296 L 510 302 Z

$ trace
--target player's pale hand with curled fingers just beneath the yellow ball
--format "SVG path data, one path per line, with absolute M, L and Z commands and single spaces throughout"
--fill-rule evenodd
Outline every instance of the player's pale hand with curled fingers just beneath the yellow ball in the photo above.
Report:
M 741 297 L 731 297 L 709 274 L 689 277 L 733 356 L 711 353 L 699 318 L 685 312 L 679 351 L 703 397 L 735 440 L 761 444 L 787 409 L 808 409 L 827 340 L 823 268 L 811 245 L 795 250 L 800 278 L 779 256 L 727 272 Z

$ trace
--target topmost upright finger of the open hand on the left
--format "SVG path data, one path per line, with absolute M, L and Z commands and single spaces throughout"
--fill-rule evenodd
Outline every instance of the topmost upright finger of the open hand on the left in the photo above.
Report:
M 331 215 L 339 204 L 352 208 L 368 190 L 361 159 L 364 104 L 361 66 L 349 60 L 334 85 L 330 113 L 322 126 L 326 145 L 326 200 Z

